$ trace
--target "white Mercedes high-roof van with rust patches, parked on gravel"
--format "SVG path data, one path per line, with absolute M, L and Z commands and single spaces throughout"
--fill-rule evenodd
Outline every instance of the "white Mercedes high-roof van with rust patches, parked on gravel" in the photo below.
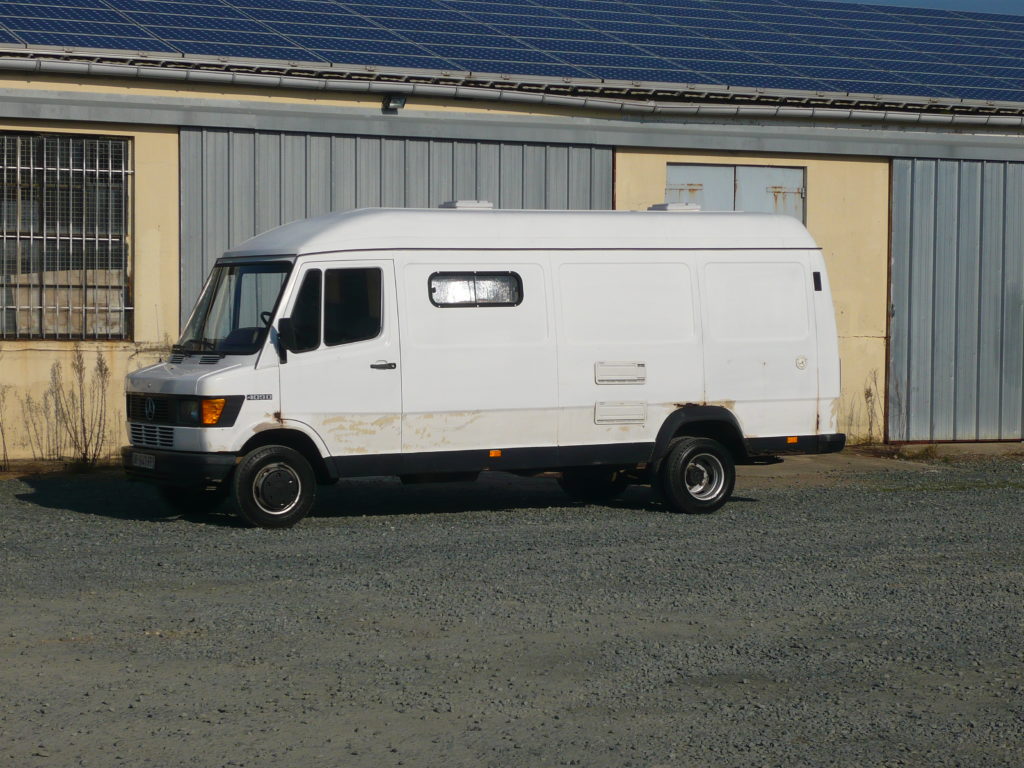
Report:
M 170 356 L 128 376 L 123 460 L 266 527 L 342 477 L 481 470 L 711 512 L 735 463 L 842 450 L 839 373 L 824 262 L 793 218 L 332 213 L 216 262 Z

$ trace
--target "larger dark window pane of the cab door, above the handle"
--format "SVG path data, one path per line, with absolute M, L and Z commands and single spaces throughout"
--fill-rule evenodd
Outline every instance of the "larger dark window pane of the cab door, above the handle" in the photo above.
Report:
M 351 344 L 380 336 L 381 270 L 328 269 L 324 279 L 324 343 Z

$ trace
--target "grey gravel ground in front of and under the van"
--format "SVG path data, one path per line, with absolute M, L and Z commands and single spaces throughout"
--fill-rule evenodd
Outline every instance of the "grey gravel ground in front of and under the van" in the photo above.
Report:
M 2 479 L 0 762 L 1024 765 L 1024 458 L 825 460 L 711 516 L 349 481 L 286 531 Z

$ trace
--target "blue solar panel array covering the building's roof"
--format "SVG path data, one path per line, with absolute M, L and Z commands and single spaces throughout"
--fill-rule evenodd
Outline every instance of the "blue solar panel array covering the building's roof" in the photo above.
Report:
M 1024 101 L 1024 17 L 817 0 L 0 0 L 0 43 Z

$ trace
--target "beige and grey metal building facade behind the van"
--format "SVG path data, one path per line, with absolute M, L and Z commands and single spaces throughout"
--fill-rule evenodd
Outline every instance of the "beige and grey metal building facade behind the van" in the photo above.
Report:
M 12 458 L 55 439 L 39 409 L 76 350 L 87 374 L 105 360 L 104 439 L 123 442 L 124 374 L 166 352 L 229 246 L 327 211 L 453 199 L 795 215 L 828 265 L 852 440 L 1024 437 L 1012 110 L 637 104 L 55 55 L 0 58 L 0 103 Z

